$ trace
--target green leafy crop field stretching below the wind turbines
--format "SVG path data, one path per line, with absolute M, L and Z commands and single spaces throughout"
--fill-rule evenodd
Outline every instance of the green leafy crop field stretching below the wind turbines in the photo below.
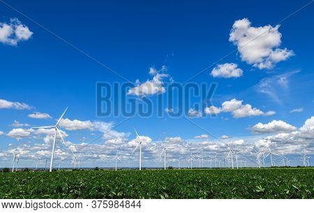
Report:
M 314 169 L 1 172 L 0 198 L 314 198 Z

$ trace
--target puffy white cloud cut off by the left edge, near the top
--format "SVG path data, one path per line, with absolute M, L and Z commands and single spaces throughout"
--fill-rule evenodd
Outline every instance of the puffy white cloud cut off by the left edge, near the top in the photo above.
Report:
M 17 45 L 20 41 L 27 41 L 33 32 L 17 18 L 10 19 L 10 23 L 0 22 L 0 42 L 7 45 Z

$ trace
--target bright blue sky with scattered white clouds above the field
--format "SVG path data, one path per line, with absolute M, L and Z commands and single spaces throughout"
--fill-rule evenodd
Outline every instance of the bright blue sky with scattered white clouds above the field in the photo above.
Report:
M 67 107 L 63 167 L 73 153 L 82 167 L 114 166 L 117 150 L 119 166 L 137 166 L 133 128 L 143 166 L 163 166 L 161 142 L 172 166 L 190 154 L 195 166 L 223 162 L 230 147 L 250 166 L 253 147 L 303 165 L 314 147 L 310 2 L 0 1 L 0 168 L 17 152 L 20 166 L 43 167 L 54 129 L 31 127 Z M 110 86 L 109 105 L 97 83 Z

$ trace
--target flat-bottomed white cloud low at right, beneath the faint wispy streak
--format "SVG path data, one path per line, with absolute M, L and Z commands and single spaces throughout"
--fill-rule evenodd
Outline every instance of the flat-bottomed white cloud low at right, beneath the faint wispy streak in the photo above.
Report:
M 287 124 L 281 120 L 273 120 L 268 124 L 258 123 L 252 127 L 253 133 L 274 133 L 274 132 L 287 132 L 295 131 L 297 127 Z

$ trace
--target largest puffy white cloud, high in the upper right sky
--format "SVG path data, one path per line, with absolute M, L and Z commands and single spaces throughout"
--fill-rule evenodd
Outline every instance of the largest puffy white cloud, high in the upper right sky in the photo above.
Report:
M 278 28 L 279 25 L 251 27 L 251 22 L 244 18 L 234 22 L 229 41 L 237 45 L 243 61 L 260 69 L 272 68 L 294 55 L 292 50 L 278 48 L 281 45 Z

